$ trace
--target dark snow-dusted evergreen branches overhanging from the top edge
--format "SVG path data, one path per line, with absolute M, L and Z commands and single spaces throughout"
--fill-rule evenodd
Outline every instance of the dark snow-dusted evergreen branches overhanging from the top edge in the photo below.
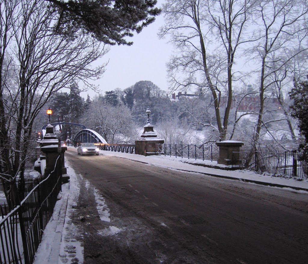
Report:
M 132 45 L 125 37 L 141 30 L 155 21 L 160 9 L 157 0 L 45 0 L 59 13 L 55 29 L 65 35 L 75 34 L 82 28 L 84 34 L 91 34 L 98 41 L 111 45 Z

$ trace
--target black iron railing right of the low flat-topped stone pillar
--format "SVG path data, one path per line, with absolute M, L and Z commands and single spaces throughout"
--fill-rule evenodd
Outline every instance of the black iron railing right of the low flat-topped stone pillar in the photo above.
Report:
M 247 149 L 233 152 L 232 167 L 249 169 L 277 176 L 307 178 L 308 166 L 297 160 L 296 151 L 271 151 Z

